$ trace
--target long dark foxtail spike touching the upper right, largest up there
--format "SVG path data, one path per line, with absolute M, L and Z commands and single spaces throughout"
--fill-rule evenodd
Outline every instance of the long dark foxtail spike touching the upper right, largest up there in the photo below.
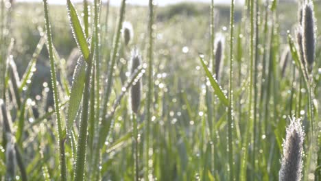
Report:
M 306 3 L 303 7 L 302 29 L 303 53 L 308 64 L 307 69 L 311 73 L 316 56 L 316 20 L 312 1 Z

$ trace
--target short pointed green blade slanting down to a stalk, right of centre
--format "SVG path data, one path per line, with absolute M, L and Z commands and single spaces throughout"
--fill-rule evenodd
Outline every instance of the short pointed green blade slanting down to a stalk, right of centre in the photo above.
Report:
M 211 82 L 211 85 L 214 89 L 214 93 L 215 95 L 217 95 L 217 97 L 219 98 L 220 101 L 222 101 L 222 103 L 225 106 L 228 106 L 228 99 L 226 98 L 226 95 L 224 95 L 223 90 L 221 88 L 221 86 L 219 86 L 219 84 L 217 83 L 217 80 L 215 80 L 211 74 L 211 72 L 209 71 L 209 69 L 206 67 L 206 64 L 203 60 L 202 57 L 200 57 L 200 62 L 202 63 L 202 66 L 204 68 L 204 71 L 206 73 L 206 76 L 209 78 L 209 81 Z

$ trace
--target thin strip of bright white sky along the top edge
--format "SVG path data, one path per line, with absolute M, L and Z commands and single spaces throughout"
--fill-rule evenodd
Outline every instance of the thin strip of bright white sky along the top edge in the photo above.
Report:
M 18 0 L 18 1 L 42 1 L 42 0 Z M 58 3 L 58 4 L 64 4 L 66 3 L 66 0 L 48 0 L 49 3 Z M 71 0 L 73 3 L 75 2 L 80 2 L 82 0 Z M 89 0 L 91 1 L 91 0 Z M 102 0 L 105 2 L 106 0 Z M 158 5 L 167 5 L 167 4 L 172 4 L 172 3 L 178 3 L 182 1 L 187 1 L 187 0 L 154 0 Z M 211 0 L 188 0 L 188 1 L 194 1 L 194 2 L 211 2 Z M 119 5 L 121 1 L 119 0 L 110 0 L 110 3 L 112 5 Z M 147 5 L 148 0 L 127 0 L 128 3 L 131 4 L 137 4 L 137 5 Z M 214 0 L 215 3 L 230 3 L 230 0 Z

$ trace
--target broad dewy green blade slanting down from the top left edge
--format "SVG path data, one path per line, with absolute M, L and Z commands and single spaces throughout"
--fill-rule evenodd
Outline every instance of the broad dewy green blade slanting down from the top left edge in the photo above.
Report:
M 86 60 L 86 62 L 88 63 L 90 50 L 88 48 L 86 36 L 84 34 L 84 29 L 82 29 L 82 25 L 79 21 L 78 13 L 70 0 L 67 0 L 67 8 L 69 19 L 71 22 L 71 29 L 73 30 L 73 36 L 78 45 L 78 48 L 80 49 L 80 51 L 82 51 L 82 56 L 84 56 L 84 60 Z

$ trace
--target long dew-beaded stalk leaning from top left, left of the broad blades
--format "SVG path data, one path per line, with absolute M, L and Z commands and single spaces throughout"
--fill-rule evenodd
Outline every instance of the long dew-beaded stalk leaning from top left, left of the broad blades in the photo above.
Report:
M 45 26 L 47 32 L 47 47 L 49 51 L 50 67 L 51 67 L 51 84 L 53 91 L 53 101 L 54 109 L 56 113 L 56 121 L 58 125 L 58 150 L 59 150 L 59 160 L 60 160 L 60 177 L 62 181 L 67 180 L 67 167 L 66 167 L 66 156 L 64 154 L 64 137 L 62 137 L 62 123 L 60 117 L 59 99 L 58 99 L 58 83 L 56 80 L 56 67 L 53 60 L 53 45 L 51 38 L 51 27 L 49 23 L 49 9 L 47 0 L 43 0 L 44 10 L 45 10 Z

